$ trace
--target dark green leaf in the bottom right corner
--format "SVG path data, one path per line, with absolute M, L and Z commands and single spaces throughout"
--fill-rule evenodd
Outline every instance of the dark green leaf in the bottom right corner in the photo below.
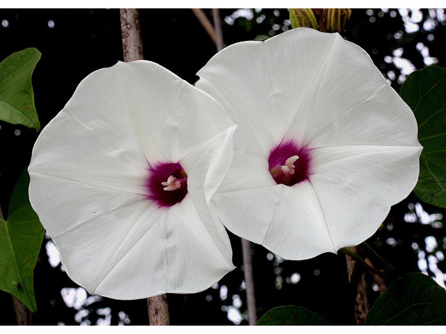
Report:
M 446 291 L 422 273 L 408 273 L 371 307 L 366 325 L 446 325 Z

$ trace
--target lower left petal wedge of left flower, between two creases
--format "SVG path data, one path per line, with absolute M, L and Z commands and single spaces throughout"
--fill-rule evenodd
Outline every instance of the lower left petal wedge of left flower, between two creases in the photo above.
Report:
M 59 248 L 68 276 L 91 294 L 107 267 L 118 259 L 116 250 L 120 246 L 132 247 L 130 241 L 123 243 L 125 238 L 141 237 L 141 229 L 144 232 L 151 228 L 165 211 L 130 193 L 32 172 L 30 178 L 31 204 Z M 129 286 L 120 279 L 117 283 Z M 114 296 L 112 292 L 107 295 Z

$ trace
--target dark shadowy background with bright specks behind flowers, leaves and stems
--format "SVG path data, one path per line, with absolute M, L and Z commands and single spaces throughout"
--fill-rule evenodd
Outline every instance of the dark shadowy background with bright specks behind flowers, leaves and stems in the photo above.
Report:
M 212 22 L 211 10 L 204 11 Z M 247 17 L 238 16 L 240 13 L 247 13 Z M 342 35 L 365 49 L 392 87 L 399 91 L 407 74 L 394 65 L 396 58 L 406 58 L 413 69 L 421 69 L 426 65 L 426 55 L 420 52 L 420 43 L 429 48 L 429 56 L 437 59 L 436 65 L 445 66 L 446 21 L 442 13 L 422 10 L 422 19 L 415 22 L 419 30 L 407 33 L 398 10 L 354 9 Z M 286 9 L 244 12 L 222 9 L 221 17 L 226 45 L 291 29 L 286 21 L 289 19 Z M 197 71 L 216 50 L 192 11 L 141 9 L 140 19 L 144 58 L 159 63 L 193 84 L 198 79 Z M 410 16 L 404 19 L 408 20 Z M 27 47 L 36 47 L 42 53 L 33 73 L 36 109 L 42 127 L 63 109 L 84 77 L 123 61 L 118 9 L 2 9 L 0 21 L 0 60 Z M 50 21 L 54 22 L 52 28 Z M 397 56 L 394 56 L 395 49 L 399 49 Z M 20 173 L 29 164 L 36 134 L 20 125 L 0 121 L 0 126 L 0 205 L 6 218 L 10 193 Z M 17 129 L 20 129 L 19 135 Z M 422 223 L 420 210 L 412 210 L 413 223 L 404 220 L 410 211 L 409 203 L 416 202 L 420 200 L 410 195 L 392 207 L 382 228 L 370 239 L 380 255 L 397 267 L 394 275 L 385 277 L 387 286 L 403 273 L 420 271 L 417 266 L 419 258 L 427 259 L 429 255 L 435 257 L 433 262 L 438 262 L 437 267 L 446 272 L 443 261 L 446 233 L 442 221 Z M 422 207 L 429 214 L 445 213 L 444 209 L 424 203 Z M 227 317 L 230 311 L 246 314 L 240 239 L 233 234 L 230 236 L 233 263 L 237 269 L 222 278 L 218 287 L 199 294 L 169 294 L 171 324 L 232 325 L 233 321 Z M 436 239 L 437 246 L 433 250 L 426 250 L 425 238 L 429 236 Z M 78 285 L 61 271 L 60 264 L 54 268 L 49 264 L 48 241 L 45 237 L 34 273 L 38 311 L 32 316 L 33 325 L 148 324 L 145 299 L 116 301 L 96 298 L 77 307 L 69 307 L 61 296 L 61 289 L 77 288 Z M 312 260 L 283 261 L 258 245 L 253 246 L 252 253 L 259 317 L 275 306 L 302 305 L 323 315 L 332 324 L 354 324 L 354 296 L 348 288 L 344 255 L 323 254 Z M 425 273 L 434 277 L 433 267 L 429 264 Z M 293 273 L 300 275 L 297 284 L 291 281 Z M 371 276 L 367 274 L 366 278 L 372 305 L 379 294 L 374 291 Z M 223 285 L 228 290 L 226 299 L 220 298 Z M 0 324 L 16 324 L 9 294 L 0 292 L 0 305 Z M 240 324 L 245 325 L 247 321 Z

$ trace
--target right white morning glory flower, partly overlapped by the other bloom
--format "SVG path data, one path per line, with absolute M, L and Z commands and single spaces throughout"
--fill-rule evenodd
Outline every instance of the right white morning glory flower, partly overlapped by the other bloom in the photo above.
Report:
M 289 260 L 337 253 L 371 237 L 414 188 L 413 112 L 339 34 L 299 28 L 240 42 L 198 75 L 239 125 L 211 199 L 239 237 Z

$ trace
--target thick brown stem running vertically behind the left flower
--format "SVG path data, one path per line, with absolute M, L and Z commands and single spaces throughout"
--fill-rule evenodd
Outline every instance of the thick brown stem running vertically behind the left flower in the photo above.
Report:
M 124 61 L 139 61 L 144 59 L 141 39 L 141 22 L 139 12 L 133 8 L 121 8 L 121 33 L 123 40 Z M 169 326 L 169 305 L 167 294 L 149 297 L 147 299 L 148 323 L 151 326 Z

